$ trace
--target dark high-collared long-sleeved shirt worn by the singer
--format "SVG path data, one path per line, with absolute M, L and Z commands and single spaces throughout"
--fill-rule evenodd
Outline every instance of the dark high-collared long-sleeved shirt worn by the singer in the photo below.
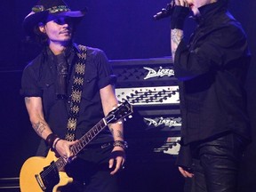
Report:
M 244 91 L 250 52 L 243 28 L 221 2 L 199 8 L 195 33 L 175 53 L 183 144 L 223 132 L 250 139 Z

